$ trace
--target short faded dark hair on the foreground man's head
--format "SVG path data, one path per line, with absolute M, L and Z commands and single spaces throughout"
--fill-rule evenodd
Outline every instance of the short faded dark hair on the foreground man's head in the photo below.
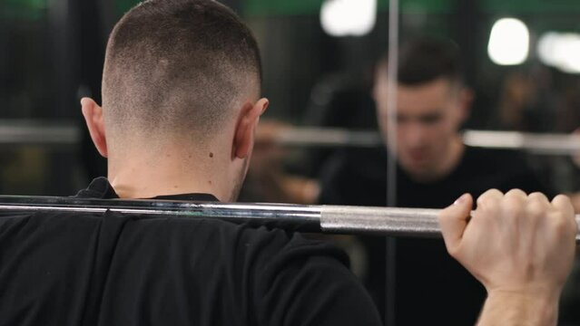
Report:
M 103 110 L 115 132 L 211 137 L 234 101 L 260 91 L 258 44 L 216 1 L 145 1 L 123 15 L 107 44 Z

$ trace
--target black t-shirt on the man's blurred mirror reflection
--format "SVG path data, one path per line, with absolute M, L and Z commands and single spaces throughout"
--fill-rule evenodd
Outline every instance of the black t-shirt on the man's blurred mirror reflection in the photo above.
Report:
M 387 151 L 349 149 L 329 160 L 321 177 L 321 204 L 386 206 Z M 418 183 L 400 167 L 397 206 L 443 208 L 470 193 L 479 197 L 490 188 L 551 192 L 541 185 L 516 152 L 467 147 L 447 177 Z M 369 257 L 365 279 L 378 310 L 385 307 L 386 241 L 365 236 Z M 398 325 L 472 325 L 485 300 L 483 286 L 447 254 L 441 239 L 395 240 L 395 309 Z

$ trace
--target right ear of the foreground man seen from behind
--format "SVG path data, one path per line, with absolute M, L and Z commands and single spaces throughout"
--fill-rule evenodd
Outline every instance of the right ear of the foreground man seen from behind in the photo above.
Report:
M 269 104 L 268 99 L 261 99 L 254 104 L 246 102 L 243 105 L 233 137 L 231 158 L 246 158 L 250 155 L 258 121 Z

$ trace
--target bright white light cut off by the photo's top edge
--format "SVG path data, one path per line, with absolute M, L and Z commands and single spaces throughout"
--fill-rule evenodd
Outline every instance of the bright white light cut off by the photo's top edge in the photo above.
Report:
M 320 24 L 331 36 L 369 34 L 377 22 L 377 0 L 325 0 Z

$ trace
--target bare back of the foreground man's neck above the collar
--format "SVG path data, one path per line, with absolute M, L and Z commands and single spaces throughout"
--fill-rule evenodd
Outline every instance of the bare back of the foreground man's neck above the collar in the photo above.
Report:
M 230 194 L 224 189 L 229 176 L 214 172 L 219 170 L 218 162 L 213 155 L 211 158 L 183 158 L 178 154 L 166 154 L 162 158 L 126 155 L 124 159 L 110 158 L 108 178 L 121 198 L 205 193 L 227 201 Z

